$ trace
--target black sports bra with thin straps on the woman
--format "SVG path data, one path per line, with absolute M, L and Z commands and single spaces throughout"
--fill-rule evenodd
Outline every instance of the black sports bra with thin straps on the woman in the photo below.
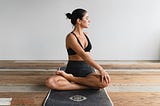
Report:
M 76 34 L 75 34 L 74 32 L 71 32 L 71 33 L 77 38 L 78 43 L 79 43 L 80 46 L 83 48 L 83 46 L 82 46 L 81 42 L 79 41 L 78 37 L 76 36 Z M 88 45 L 87 45 L 86 48 L 84 48 L 84 51 L 85 51 L 85 52 L 90 52 L 90 50 L 92 49 L 91 42 L 89 41 L 89 38 L 87 37 L 87 35 L 86 35 L 86 34 L 84 34 L 84 35 L 85 35 L 85 37 L 87 38 L 87 41 L 88 41 Z M 71 49 L 71 48 L 68 48 L 68 49 L 67 49 L 67 52 L 68 52 L 68 55 L 75 55 L 75 54 L 77 54 L 77 53 L 76 53 L 73 49 Z

